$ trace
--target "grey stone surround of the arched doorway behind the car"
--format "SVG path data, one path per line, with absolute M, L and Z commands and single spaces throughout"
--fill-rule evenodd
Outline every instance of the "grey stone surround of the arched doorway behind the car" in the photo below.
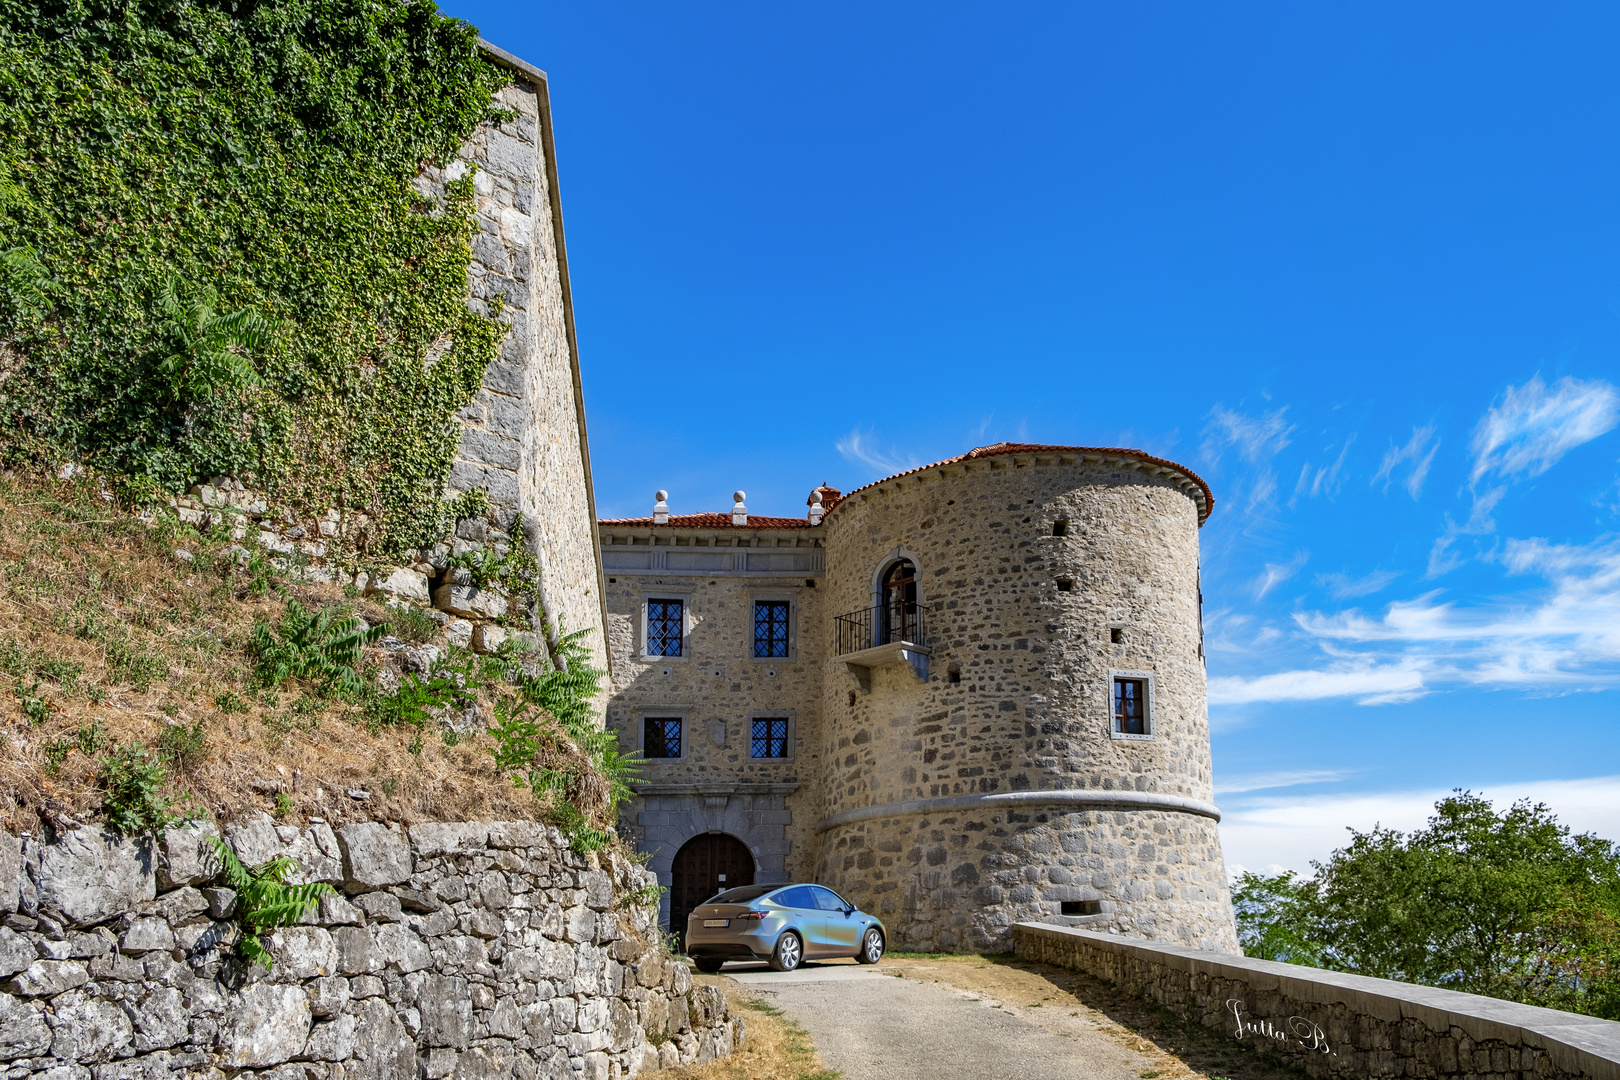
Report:
M 703 832 L 729 832 L 753 855 L 755 882 L 787 881 L 787 797 L 797 784 L 640 784 L 642 850 L 658 884 L 672 884 L 676 852 Z M 669 928 L 669 895 L 659 904 L 659 923 Z

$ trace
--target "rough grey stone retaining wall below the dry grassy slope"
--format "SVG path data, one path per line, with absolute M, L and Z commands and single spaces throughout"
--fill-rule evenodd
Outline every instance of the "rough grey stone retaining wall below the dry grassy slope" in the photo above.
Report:
M 227 827 L 337 894 L 233 955 L 237 897 L 206 837 L 0 832 L 8 1080 L 633 1075 L 742 1040 L 724 996 L 653 944 L 645 871 L 533 823 Z

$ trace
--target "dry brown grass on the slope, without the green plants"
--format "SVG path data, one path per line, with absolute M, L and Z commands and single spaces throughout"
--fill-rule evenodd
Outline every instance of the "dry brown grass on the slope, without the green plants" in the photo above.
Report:
M 165 729 L 198 724 L 206 751 L 172 769 L 170 793 L 222 823 L 261 810 L 287 824 L 535 818 L 533 797 L 494 769 L 483 732 L 452 746 L 429 725 L 411 755 L 415 727 L 368 730 L 356 706 L 311 687 L 258 687 L 248 635 L 287 599 L 373 623 L 389 612 L 241 567 L 228 546 L 177 521 L 143 523 L 96 481 L 0 476 L 0 826 L 96 816 L 107 750 L 75 748 L 52 767 L 53 743 L 100 730 L 109 748 L 151 748 Z M 368 662 L 387 657 L 368 649 Z

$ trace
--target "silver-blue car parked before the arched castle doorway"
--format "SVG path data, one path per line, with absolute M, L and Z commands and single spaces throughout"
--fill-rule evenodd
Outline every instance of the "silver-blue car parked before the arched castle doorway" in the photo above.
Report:
M 727 889 L 687 918 L 687 955 L 711 973 L 726 960 L 768 960 L 778 972 L 831 957 L 876 963 L 885 942 L 876 915 L 812 884 Z

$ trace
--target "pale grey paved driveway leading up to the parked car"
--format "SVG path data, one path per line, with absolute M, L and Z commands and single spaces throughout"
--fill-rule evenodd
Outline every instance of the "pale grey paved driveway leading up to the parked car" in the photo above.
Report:
M 894 978 L 881 963 L 787 973 L 727 963 L 724 973 L 802 1023 L 846 1080 L 1137 1080 L 1155 1069 L 1084 1015 Z

